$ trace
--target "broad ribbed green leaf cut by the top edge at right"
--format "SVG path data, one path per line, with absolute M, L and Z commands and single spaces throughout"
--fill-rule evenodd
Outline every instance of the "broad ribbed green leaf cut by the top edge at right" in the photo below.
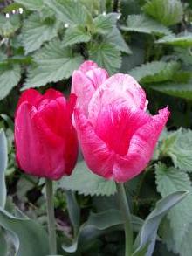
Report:
M 142 9 L 164 25 L 177 24 L 182 20 L 182 3 L 179 0 L 150 0 Z

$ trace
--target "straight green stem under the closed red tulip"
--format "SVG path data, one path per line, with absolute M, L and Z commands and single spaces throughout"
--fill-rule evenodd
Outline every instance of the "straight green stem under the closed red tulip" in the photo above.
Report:
M 52 181 L 45 179 L 50 254 L 57 254 Z

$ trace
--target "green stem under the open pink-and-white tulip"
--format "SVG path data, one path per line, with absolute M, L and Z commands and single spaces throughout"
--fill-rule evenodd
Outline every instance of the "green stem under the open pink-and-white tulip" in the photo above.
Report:
M 133 228 L 131 222 L 131 213 L 129 210 L 126 190 L 123 183 L 116 183 L 117 194 L 120 204 L 120 211 L 122 213 L 122 218 L 124 220 L 124 229 L 125 229 L 125 256 L 131 256 L 133 253 Z

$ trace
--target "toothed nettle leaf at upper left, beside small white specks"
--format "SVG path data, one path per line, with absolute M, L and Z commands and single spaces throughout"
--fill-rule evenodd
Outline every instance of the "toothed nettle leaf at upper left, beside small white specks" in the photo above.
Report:
M 46 41 L 55 38 L 59 24 L 54 19 L 42 20 L 37 13 L 24 20 L 22 39 L 25 53 L 38 50 Z

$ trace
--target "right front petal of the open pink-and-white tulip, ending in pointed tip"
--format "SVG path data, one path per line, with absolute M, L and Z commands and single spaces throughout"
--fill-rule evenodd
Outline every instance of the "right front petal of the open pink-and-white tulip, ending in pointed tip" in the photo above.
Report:
M 126 156 L 116 156 L 113 165 L 113 179 L 126 182 L 147 167 L 158 138 L 168 121 L 168 107 L 161 109 L 147 124 L 139 128 L 130 142 Z

